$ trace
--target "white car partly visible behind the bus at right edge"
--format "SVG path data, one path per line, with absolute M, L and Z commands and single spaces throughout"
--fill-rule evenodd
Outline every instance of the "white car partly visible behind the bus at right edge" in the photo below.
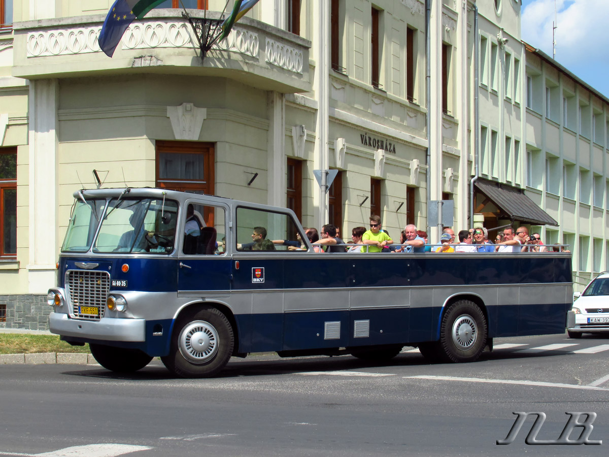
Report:
M 582 294 L 575 292 L 573 297 L 577 300 L 567 312 L 569 338 L 582 338 L 583 333 L 609 332 L 609 272 L 602 272 Z

